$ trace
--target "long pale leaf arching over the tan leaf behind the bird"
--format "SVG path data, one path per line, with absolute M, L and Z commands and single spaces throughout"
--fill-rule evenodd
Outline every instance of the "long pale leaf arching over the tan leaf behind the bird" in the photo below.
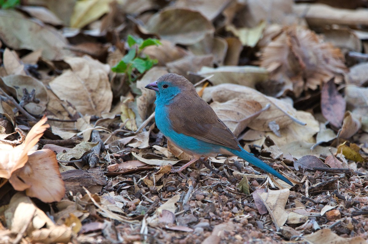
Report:
M 275 121 L 280 128 L 285 128 L 292 122 L 304 124 L 303 122 L 298 121 L 298 119 L 295 117 L 296 110 L 293 108 L 293 106 L 282 100 L 265 96 L 264 94 L 250 87 L 234 84 L 221 84 L 213 87 L 207 87 L 204 90 L 202 97 L 206 101 L 212 99 L 213 101 L 220 103 L 228 101 L 230 98 L 233 99 L 237 97 L 247 97 L 248 100 L 257 101 L 262 105 L 262 107 L 270 104 L 270 108 L 266 113 L 263 112 L 248 125 L 249 128 L 254 130 L 271 131 L 268 126 L 269 122 L 271 121 Z

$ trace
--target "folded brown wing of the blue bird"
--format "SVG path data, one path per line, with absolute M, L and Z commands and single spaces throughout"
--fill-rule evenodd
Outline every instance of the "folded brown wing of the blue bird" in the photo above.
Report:
M 240 151 L 238 140 L 197 94 L 179 94 L 169 105 L 171 126 L 177 133 Z

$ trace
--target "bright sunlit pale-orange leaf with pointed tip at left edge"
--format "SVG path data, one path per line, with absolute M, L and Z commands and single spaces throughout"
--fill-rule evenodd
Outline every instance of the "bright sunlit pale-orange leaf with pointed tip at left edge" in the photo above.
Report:
M 9 179 L 14 171 L 22 168 L 28 161 L 28 152 L 38 143 L 43 132 L 49 125 L 44 125 L 47 121 L 43 117 L 29 130 L 22 144 L 12 147 L 8 144 L 0 143 L 0 178 Z

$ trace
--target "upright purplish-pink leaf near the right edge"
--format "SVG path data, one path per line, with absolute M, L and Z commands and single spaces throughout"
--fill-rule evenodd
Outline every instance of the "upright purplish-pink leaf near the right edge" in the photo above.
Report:
M 344 119 L 346 101 L 343 96 L 337 92 L 334 78 L 330 79 L 322 88 L 321 110 L 322 115 L 331 125 L 336 128 L 341 127 Z

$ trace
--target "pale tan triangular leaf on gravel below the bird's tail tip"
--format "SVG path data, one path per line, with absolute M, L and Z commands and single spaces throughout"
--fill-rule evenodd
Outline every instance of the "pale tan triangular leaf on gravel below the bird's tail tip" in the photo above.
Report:
M 288 214 L 285 211 L 285 206 L 289 198 L 289 194 L 289 189 L 276 191 L 268 190 L 268 192 L 259 193 L 259 196 L 266 205 L 266 208 L 277 230 L 279 230 L 280 227 L 286 223 Z

